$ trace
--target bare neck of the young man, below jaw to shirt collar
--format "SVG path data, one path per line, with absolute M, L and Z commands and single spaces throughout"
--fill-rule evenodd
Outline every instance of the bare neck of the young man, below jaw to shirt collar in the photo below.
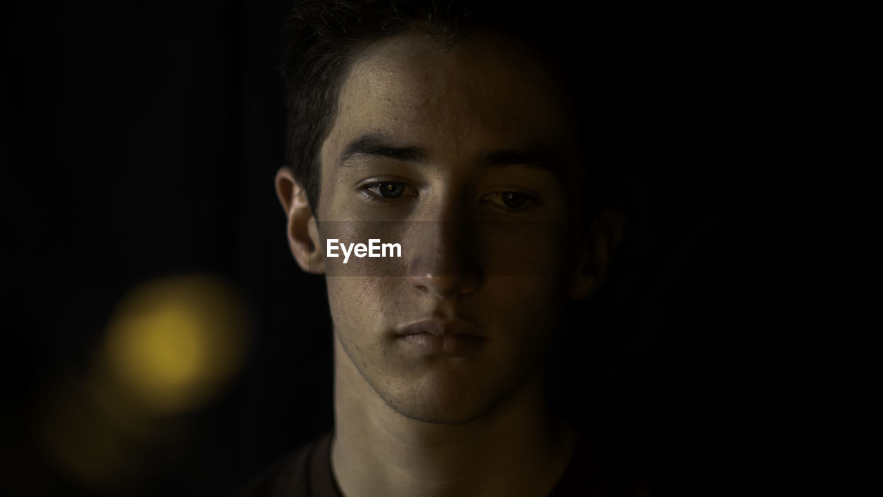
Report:
M 479 418 L 426 423 L 384 403 L 336 340 L 335 412 L 332 467 L 347 497 L 545 496 L 576 441 L 548 414 L 542 371 Z

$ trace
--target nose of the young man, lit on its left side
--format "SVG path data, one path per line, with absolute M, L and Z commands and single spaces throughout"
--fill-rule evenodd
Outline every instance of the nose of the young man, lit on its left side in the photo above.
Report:
M 469 222 L 418 222 L 419 246 L 408 281 L 420 293 L 457 297 L 479 289 L 482 282 L 475 230 Z

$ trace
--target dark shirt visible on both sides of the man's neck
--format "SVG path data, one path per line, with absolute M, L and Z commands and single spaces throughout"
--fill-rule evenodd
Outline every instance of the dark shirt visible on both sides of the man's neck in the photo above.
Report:
M 548 497 L 635 495 L 634 478 L 611 465 L 615 457 L 581 436 L 567 471 Z M 343 497 L 331 472 L 331 433 L 276 463 L 241 497 Z

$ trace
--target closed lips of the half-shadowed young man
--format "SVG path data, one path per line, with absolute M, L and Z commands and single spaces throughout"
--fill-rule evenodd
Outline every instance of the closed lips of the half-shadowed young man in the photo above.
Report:
M 462 358 L 478 350 L 487 338 L 464 320 L 420 320 L 396 331 L 398 339 L 426 356 Z

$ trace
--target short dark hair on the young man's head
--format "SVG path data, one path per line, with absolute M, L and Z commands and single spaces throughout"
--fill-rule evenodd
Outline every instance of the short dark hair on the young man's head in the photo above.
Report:
M 282 72 L 287 91 L 288 130 L 286 163 L 294 177 L 304 185 L 307 200 L 316 213 L 320 192 L 320 149 L 334 123 L 337 98 L 351 64 L 376 41 L 386 40 L 411 30 L 428 34 L 440 47 L 449 47 L 471 34 L 498 31 L 512 36 L 554 59 L 569 80 L 571 94 L 580 115 L 594 109 L 590 125 L 592 135 L 606 147 L 611 136 L 599 139 L 599 132 L 610 135 L 618 112 L 597 112 L 619 102 L 615 94 L 619 72 L 608 72 L 592 85 L 582 85 L 577 66 L 601 59 L 613 60 L 615 37 L 610 37 L 609 13 L 586 18 L 584 11 L 569 12 L 554 1 L 518 2 L 504 0 L 300 0 L 291 9 L 283 29 Z M 596 42 L 590 51 L 586 45 Z M 598 46 L 597 41 L 601 41 Z M 576 64 L 575 64 L 576 63 Z M 611 67 L 608 62 L 596 66 Z M 600 100 L 585 95 L 589 87 L 608 88 Z M 613 94 L 611 94 L 612 92 Z M 617 107 L 615 105 L 615 107 Z M 610 117 L 614 117 L 612 120 Z M 598 126 L 600 121 L 607 121 Z M 582 124 L 585 128 L 585 124 Z M 587 130 L 585 130 L 587 131 Z M 585 135 L 584 131 L 584 136 Z M 613 143 L 618 143 L 614 139 Z M 618 150 L 613 147 L 611 151 Z M 598 151 L 594 150 L 593 154 Z M 611 176 L 614 164 L 599 168 Z M 614 175 L 616 176 L 616 175 Z M 596 177 L 597 179 L 597 177 Z M 592 206 L 596 211 L 608 203 L 611 178 L 593 181 Z M 600 188 L 598 185 L 603 184 Z M 594 190 L 598 190 L 594 192 Z

